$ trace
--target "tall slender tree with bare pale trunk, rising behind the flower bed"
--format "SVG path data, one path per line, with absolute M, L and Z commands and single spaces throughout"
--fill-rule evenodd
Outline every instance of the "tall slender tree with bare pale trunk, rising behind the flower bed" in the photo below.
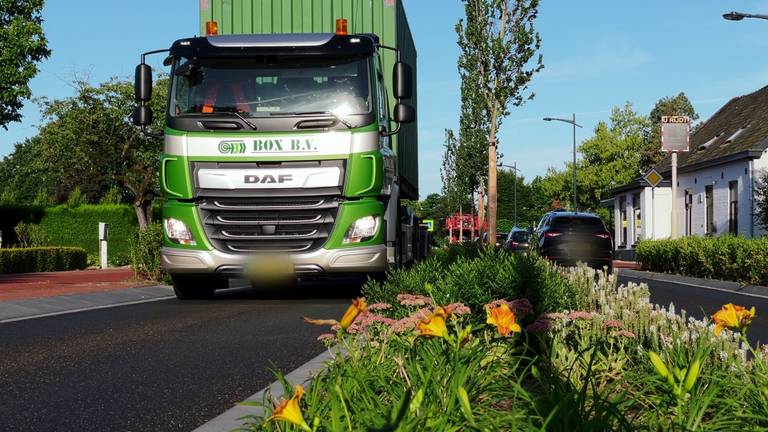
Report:
M 528 83 L 543 68 L 541 55 L 536 56 L 538 7 L 538 0 L 464 0 L 466 21 L 456 25 L 459 72 L 462 83 L 471 83 L 462 87 L 470 93 L 462 97 L 482 107 L 487 119 L 481 130 L 488 144 L 488 238 L 496 235 L 496 135 L 509 105 L 533 98 Z

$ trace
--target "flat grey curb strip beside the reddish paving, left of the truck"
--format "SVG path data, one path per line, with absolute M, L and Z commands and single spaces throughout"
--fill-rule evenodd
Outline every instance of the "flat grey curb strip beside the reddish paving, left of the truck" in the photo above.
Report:
M 0 324 L 175 298 L 168 286 L 68 294 L 0 302 Z

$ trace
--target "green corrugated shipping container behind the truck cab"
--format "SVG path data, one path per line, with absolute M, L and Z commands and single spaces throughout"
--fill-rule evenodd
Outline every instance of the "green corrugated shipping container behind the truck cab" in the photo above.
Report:
M 200 0 L 200 34 L 205 34 L 208 21 L 216 21 L 222 35 L 333 33 L 338 18 L 347 19 L 350 33 L 374 33 L 382 45 L 400 49 L 402 60 L 413 68 L 413 98 L 407 103 L 418 108 L 416 46 L 402 0 Z M 395 53 L 383 50 L 382 54 L 385 70 L 391 71 Z M 392 74 L 386 75 L 394 107 Z M 419 195 L 417 131 L 417 122 L 406 124 L 394 138 L 402 198 L 418 199 Z

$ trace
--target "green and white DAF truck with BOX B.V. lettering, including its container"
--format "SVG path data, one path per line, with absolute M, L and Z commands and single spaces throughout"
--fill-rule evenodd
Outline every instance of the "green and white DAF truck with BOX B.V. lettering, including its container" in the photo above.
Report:
M 416 49 L 400 0 L 201 0 L 167 52 L 162 264 L 179 298 L 232 277 L 377 274 L 421 255 Z

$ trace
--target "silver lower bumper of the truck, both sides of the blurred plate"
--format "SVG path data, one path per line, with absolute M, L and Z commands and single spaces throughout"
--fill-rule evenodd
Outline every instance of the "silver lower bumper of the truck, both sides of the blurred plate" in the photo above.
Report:
M 160 251 L 163 268 L 171 274 L 244 273 L 247 255 L 226 254 L 218 250 L 200 251 L 164 247 Z M 345 249 L 318 249 L 305 254 L 289 254 L 298 276 L 328 273 L 369 273 L 387 269 L 385 245 Z

